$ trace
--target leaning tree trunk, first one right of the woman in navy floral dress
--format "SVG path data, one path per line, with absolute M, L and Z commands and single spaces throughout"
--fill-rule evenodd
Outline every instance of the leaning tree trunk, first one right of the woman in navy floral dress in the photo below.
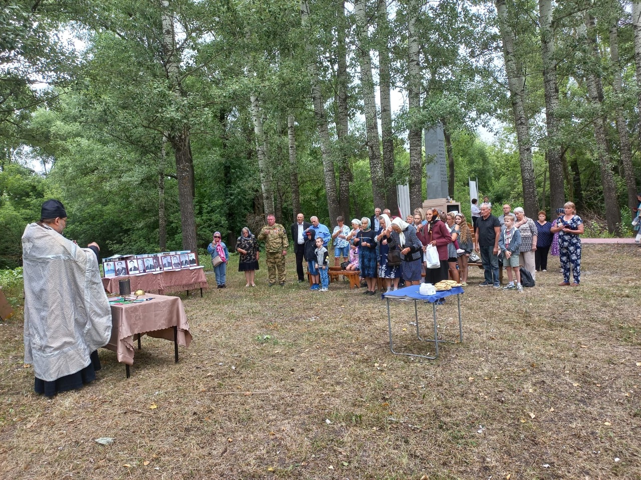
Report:
M 588 43 L 588 51 L 592 56 L 592 61 L 599 58 L 599 47 L 596 41 L 596 32 L 594 18 L 590 13 L 585 13 L 585 38 Z M 594 68 L 587 68 L 586 85 L 588 97 L 594 105 L 594 111 L 599 112 L 595 116 L 592 124 L 594 125 L 594 137 L 596 140 L 597 156 L 599 157 L 599 170 L 601 170 L 601 184 L 603 185 L 603 198 L 605 201 L 605 216 L 608 223 L 608 232 L 615 233 L 619 230 L 621 214 L 617 202 L 617 190 L 614 184 L 612 174 L 612 164 L 610 164 L 610 152 L 608 148 L 608 137 L 606 134 L 606 118 L 601 115 L 603 111 L 603 84 L 601 77 Z

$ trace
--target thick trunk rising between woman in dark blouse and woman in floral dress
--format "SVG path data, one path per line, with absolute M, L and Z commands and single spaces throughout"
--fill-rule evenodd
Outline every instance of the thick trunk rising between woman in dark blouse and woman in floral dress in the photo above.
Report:
M 541 58 L 543 62 L 543 85 L 545 95 L 545 125 L 547 127 L 547 168 L 550 172 L 550 207 L 556 210 L 565 203 L 563 165 L 559 145 L 559 89 L 554 58 L 554 29 L 552 26 L 552 0 L 538 0 L 541 34 Z

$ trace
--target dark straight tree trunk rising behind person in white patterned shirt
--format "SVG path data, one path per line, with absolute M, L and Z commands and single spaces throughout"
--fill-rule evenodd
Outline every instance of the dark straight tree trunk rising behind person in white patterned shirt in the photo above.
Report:
M 350 83 L 347 70 L 347 47 L 345 47 L 345 1 L 338 2 L 337 12 L 337 88 L 336 88 L 336 136 L 338 137 L 338 211 L 345 221 L 349 219 L 349 184 L 353 179 L 349 164 L 349 106 L 347 105 L 347 88 Z

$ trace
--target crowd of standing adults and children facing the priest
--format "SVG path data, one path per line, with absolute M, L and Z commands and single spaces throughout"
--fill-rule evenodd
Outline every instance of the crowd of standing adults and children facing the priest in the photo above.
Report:
M 522 207 L 512 211 L 508 204 L 503 205 L 503 213 L 496 217 L 487 197 L 481 204 L 473 199 L 471 207 L 471 225 L 461 212 L 445 213 L 419 207 L 403 220 L 392 215 L 389 209 L 381 211 L 377 207 L 371 217 L 354 218 L 351 228 L 339 216 L 331 232 L 317 216 L 307 222 L 299 213 L 290 227 L 297 281 L 305 282 L 306 267 L 312 291 L 328 291 L 331 268 L 358 271 L 366 295 L 375 294 L 379 278 L 383 279 L 383 289 L 387 292 L 398 289 L 399 285 L 437 284 L 447 278 L 467 286 L 470 255 L 476 253 L 475 260 L 483 266 L 484 276 L 479 285 L 520 292 L 523 290 L 520 269 L 527 270 L 535 281 L 537 271 L 547 271 L 547 257 L 551 253 L 560 259 L 563 272 L 560 285 L 579 285 L 579 236 L 583 234 L 583 221 L 576 215 L 572 202 L 556 211 L 554 221 L 547 220 L 544 211 L 538 212 L 534 221 L 526 216 Z M 257 236 L 244 227 L 236 241 L 235 250 L 240 255 L 238 271 L 244 272 L 245 286 L 256 286 L 261 241 L 265 243 L 269 286 L 284 286 L 289 239 L 285 227 L 276 223 L 272 214 L 267 216 L 267 225 Z M 224 289 L 229 253 L 220 232 L 213 234 L 208 252 L 212 256 L 217 286 Z M 432 257 L 433 262 L 428 264 L 428 257 Z M 501 268 L 505 268 L 508 275 L 504 286 L 499 281 Z

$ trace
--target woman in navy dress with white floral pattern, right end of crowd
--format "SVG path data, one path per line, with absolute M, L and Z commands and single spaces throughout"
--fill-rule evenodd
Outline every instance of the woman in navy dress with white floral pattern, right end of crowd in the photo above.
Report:
M 560 287 L 578 287 L 581 283 L 581 239 L 583 220 L 576 214 L 572 202 L 563 205 L 564 215 L 554 221 L 551 232 L 559 234 L 559 260 L 563 271 L 563 282 Z M 570 267 L 572 268 L 572 284 L 570 284 Z

